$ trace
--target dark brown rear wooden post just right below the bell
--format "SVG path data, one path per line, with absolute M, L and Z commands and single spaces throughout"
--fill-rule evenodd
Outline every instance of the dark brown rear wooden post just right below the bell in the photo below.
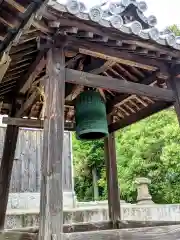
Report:
M 109 136 L 105 138 L 104 148 L 106 159 L 109 219 L 113 222 L 114 227 L 117 228 L 117 221 L 121 219 L 121 211 L 114 133 L 109 134 Z

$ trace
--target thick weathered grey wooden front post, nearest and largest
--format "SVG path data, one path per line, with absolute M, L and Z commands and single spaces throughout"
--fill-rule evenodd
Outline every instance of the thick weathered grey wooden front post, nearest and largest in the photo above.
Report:
M 51 49 L 47 59 L 39 239 L 63 239 L 63 137 L 65 57 Z

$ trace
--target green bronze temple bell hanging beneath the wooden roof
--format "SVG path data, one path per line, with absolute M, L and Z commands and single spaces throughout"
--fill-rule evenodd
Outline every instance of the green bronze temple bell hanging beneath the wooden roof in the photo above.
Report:
M 96 140 L 108 135 L 106 106 L 99 92 L 87 90 L 80 93 L 75 110 L 77 139 Z

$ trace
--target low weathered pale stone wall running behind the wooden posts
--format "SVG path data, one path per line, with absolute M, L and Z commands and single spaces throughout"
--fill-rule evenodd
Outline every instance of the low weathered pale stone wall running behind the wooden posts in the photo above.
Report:
M 64 209 L 64 223 L 97 222 L 108 220 L 107 206 Z M 122 204 L 121 218 L 127 221 L 180 221 L 180 204 Z M 39 209 L 9 210 L 5 228 L 21 228 L 39 225 Z

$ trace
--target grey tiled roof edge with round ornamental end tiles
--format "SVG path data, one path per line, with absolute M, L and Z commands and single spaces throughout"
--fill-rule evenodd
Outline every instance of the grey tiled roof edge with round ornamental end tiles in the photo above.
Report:
M 180 50 L 180 37 L 176 37 L 170 30 L 160 32 L 156 28 L 156 17 L 145 16 L 144 12 L 148 8 L 145 1 L 106 1 L 88 8 L 78 0 L 50 0 L 48 5 L 83 21 L 91 21 L 99 26 L 114 28 L 123 34 L 136 35 L 142 40 L 151 40 L 160 45 Z

